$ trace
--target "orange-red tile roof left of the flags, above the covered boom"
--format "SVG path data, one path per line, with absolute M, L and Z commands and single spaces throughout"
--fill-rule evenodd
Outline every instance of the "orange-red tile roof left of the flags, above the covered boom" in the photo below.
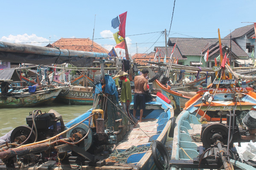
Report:
M 93 52 L 98 53 L 108 53 L 109 51 L 103 48 L 101 45 L 96 42 L 92 42 L 90 38 L 61 38 L 58 41 L 54 42 L 48 47 L 58 47 L 60 49 L 76 50 L 76 51 L 92 51 L 93 43 Z

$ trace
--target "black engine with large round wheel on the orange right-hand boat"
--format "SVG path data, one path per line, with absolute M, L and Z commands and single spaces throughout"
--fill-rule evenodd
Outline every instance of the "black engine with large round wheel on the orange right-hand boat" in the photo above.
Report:
M 224 169 L 231 170 L 229 159 L 239 160 L 239 154 L 233 147 L 233 143 L 238 142 L 241 146 L 241 142 L 250 142 L 255 139 L 256 111 L 249 111 L 242 122 L 245 126 L 238 126 L 235 111 L 233 113 L 230 111 L 227 114 L 226 124 L 220 121 L 202 125 L 203 146 L 198 147 L 199 156 L 194 159 L 193 163 L 198 164 L 199 168 L 209 168 L 209 164 L 212 164 L 209 169 L 218 169 L 223 165 Z M 247 163 L 250 164 L 248 161 Z

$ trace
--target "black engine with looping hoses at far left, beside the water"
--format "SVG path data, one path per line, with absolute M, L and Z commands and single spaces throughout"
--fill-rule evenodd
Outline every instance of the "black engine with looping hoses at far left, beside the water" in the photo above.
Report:
M 56 111 L 53 112 L 42 113 L 40 110 L 30 112 L 26 117 L 27 125 L 16 127 L 11 133 L 10 141 L 28 144 L 35 142 L 35 139 L 41 141 L 63 131 L 65 126 L 62 116 Z

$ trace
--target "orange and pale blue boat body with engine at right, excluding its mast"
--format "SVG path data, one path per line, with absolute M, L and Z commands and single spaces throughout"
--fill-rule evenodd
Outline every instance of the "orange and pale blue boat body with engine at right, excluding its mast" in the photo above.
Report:
M 209 96 L 213 96 L 212 102 L 204 103 L 205 94 L 208 93 Z M 196 96 L 186 102 L 186 107 L 177 116 L 171 157 L 172 169 L 220 168 L 226 162 L 220 161 L 222 156 L 214 156 L 215 153 L 220 152 L 219 143 L 226 155 L 229 153 L 227 148 L 230 147 L 229 163 L 239 167 L 241 162 L 235 154 L 233 142 L 250 141 L 247 138 L 250 136 L 250 130 L 245 125 L 237 124 L 237 122 L 241 123 L 241 119 L 236 118 L 254 111 L 255 107 L 256 93 L 252 88 L 219 88 L 198 91 Z M 230 128 L 233 129 L 232 135 L 229 135 Z M 228 143 L 229 140 L 232 142 Z M 245 164 L 242 166 L 246 167 Z

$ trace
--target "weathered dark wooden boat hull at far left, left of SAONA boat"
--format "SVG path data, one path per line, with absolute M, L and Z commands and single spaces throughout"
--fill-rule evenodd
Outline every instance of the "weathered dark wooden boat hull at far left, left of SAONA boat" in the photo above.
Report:
M 14 96 L 0 96 L 0 108 L 29 107 L 51 103 L 55 100 L 61 88 L 23 93 Z

